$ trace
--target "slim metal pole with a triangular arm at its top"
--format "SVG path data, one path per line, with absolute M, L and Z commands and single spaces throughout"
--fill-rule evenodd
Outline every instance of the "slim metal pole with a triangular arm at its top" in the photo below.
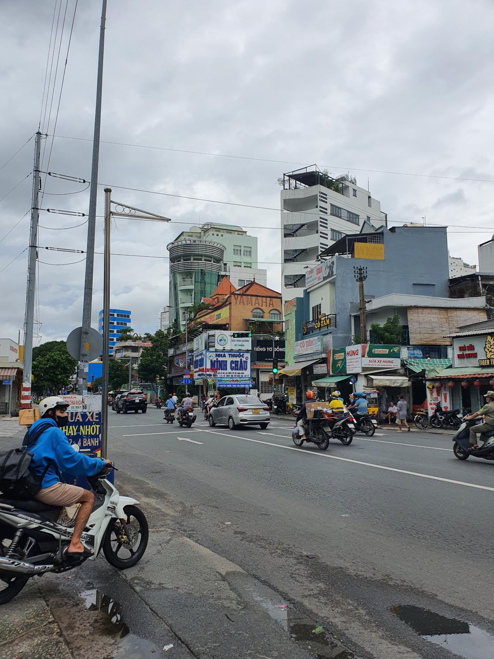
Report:
M 111 210 L 111 204 L 115 210 Z M 120 209 L 120 210 L 119 210 Z M 112 217 L 130 217 L 131 219 L 148 219 L 155 222 L 169 222 L 169 217 L 155 215 L 141 208 L 134 208 L 126 204 L 120 204 L 111 199 L 111 188 L 105 188 L 105 254 L 103 275 L 103 382 L 101 406 L 101 457 L 107 457 L 108 450 L 108 367 L 110 349 L 110 229 Z M 132 374 L 132 358 L 129 366 L 129 389 Z

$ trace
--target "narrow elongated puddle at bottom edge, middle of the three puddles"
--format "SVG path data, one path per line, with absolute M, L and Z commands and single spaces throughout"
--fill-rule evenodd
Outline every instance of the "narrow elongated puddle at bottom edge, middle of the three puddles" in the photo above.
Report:
M 314 630 L 317 629 L 318 623 L 299 614 L 290 605 L 280 609 L 279 604 L 274 604 L 256 592 L 252 592 L 252 596 L 269 616 L 285 629 L 292 641 L 316 659 L 354 659 L 354 654 L 339 645 L 325 629 L 316 634 Z

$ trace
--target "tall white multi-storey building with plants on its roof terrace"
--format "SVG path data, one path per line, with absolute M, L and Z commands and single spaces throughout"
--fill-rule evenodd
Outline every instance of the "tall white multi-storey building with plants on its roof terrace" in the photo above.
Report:
M 305 273 L 319 253 L 364 221 L 387 225 L 381 202 L 348 175 L 333 178 L 317 165 L 283 175 L 281 190 L 281 255 L 283 301 L 303 295 Z

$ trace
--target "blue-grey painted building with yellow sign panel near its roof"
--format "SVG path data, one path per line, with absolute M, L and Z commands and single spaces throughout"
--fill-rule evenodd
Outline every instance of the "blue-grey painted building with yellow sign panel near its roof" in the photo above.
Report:
M 307 288 L 296 301 L 295 341 L 323 335 L 322 352 L 350 345 L 360 334 L 358 316 L 356 322 L 352 319 L 358 311 L 354 268 L 359 267 L 366 269 L 366 300 L 390 293 L 447 298 L 446 227 L 376 229 L 364 223 L 359 233 L 345 235 L 321 252 L 321 264 L 306 273 Z

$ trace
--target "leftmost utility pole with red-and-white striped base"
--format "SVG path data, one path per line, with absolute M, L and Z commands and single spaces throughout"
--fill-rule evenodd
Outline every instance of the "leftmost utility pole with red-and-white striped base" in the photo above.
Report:
M 36 289 L 36 242 L 38 239 L 38 197 L 40 195 L 41 132 L 36 133 L 34 147 L 34 171 L 32 182 L 31 231 L 29 237 L 28 292 L 26 295 L 26 326 L 24 329 L 24 370 L 22 371 L 22 393 L 20 407 L 31 407 L 32 335 L 34 329 L 34 291 Z

